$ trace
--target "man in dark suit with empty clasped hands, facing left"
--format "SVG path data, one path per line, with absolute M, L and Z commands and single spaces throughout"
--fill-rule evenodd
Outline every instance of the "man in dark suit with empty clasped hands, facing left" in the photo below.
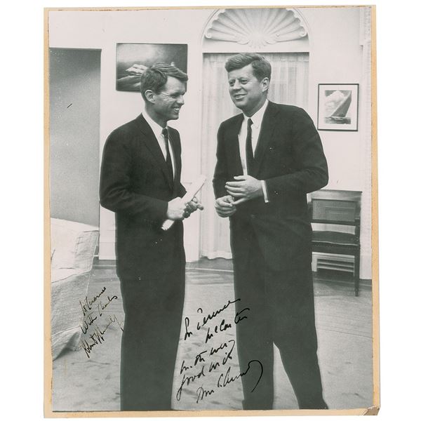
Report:
M 267 100 L 271 66 L 258 54 L 225 64 L 229 94 L 243 114 L 218 131 L 215 208 L 230 218 L 236 325 L 244 409 L 272 409 L 273 344 L 300 408 L 327 408 L 317 358 L 312 228 L 306 194 L 328 182 L 312 119 Z M 249 362 L 258 360 L 260 366 Z M 256 385 L 256 383 L 258 384 Z

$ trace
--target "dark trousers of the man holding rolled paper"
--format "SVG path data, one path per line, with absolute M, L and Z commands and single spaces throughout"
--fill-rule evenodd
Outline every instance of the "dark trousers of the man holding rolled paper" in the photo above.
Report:
M 170 410 L 185 265 L 156 279 L 121 279 L 121 410 Z

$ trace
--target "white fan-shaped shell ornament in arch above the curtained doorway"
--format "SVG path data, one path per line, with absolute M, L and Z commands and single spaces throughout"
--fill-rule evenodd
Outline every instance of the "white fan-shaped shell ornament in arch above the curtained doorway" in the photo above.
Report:
M 205 30 L 206 39 L 230 41 L 261 48 L 307 36 L 298 14 L 290 8 L 232 8 L 215 13 Z

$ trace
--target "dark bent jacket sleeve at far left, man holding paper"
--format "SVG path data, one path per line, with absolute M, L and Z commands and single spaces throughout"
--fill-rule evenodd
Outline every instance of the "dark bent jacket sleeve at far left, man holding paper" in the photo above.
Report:
M 140 215 L 145 220 L 166 219 L 168 203 L 133 192 L 131 188 L 132 154 L 123 134 L 114 131 L 105 142 L 100 174 L 100 203 L 113 212 Z

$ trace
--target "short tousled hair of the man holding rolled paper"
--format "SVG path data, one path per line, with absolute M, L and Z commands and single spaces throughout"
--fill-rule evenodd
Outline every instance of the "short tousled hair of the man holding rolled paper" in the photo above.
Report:
M 140 79 L 140 93 L 143 99 L 146 101 L 146 91 L 151 90 L 160 93 L 168 81 L 168 76 L 175 77 L 182 82 L 187 82 L 189 79 L 189 76 L 178 67 L 163 62 L 155 63 L 143 72 L 142 79 Z

